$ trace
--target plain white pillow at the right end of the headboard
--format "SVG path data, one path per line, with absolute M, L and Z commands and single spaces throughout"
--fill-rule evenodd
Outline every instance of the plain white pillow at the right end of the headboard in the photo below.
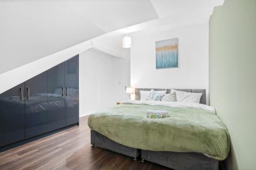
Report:
M 179 91 L 171 89 L 170 93 L 176 92 L 177 102 L 189 102 L 189 103 L 200 103 L 200 99 L 203 93 L 191 93 L 185 91 Z

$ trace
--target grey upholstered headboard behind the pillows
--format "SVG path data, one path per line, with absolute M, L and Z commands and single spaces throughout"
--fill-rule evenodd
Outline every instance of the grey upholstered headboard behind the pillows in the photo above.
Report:
M 155 91 L 166 90 L 166 93 L 170 93 L 170 89 L 165 89 L 165 88 L 135 88 L 135 100 L 140 100 L 140 90 L 150 91 L 151 89 L 154 89 Z M 201 96 L 201 99 L 200 99 L 200 103 L 206 104 L 206 90 L 205 89 L 175 89 L 175 90 L 193 92 L 193 93 L 203 93 Z

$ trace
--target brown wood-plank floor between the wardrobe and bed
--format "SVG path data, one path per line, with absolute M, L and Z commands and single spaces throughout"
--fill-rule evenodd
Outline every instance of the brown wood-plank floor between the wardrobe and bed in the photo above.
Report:
M 168 169 L 90 144 L 87 117 L 82 117 L 80 126 L 0 153 L 0 169 Z

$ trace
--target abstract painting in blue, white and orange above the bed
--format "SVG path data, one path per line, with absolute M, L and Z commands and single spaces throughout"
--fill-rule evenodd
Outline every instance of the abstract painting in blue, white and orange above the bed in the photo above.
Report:
M 178 38 L 156 41 L 156 68 L 178 67 Z

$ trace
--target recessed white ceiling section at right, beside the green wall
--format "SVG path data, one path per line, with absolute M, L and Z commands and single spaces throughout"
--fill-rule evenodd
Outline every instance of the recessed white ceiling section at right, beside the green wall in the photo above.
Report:
M 119 29 L 104 36 L 111 37 L 125 33 L 137 35 L 197 25 L 209 21 L 214 7 L 223 5 L 225 0 L 150 0 L 157 19 Z

